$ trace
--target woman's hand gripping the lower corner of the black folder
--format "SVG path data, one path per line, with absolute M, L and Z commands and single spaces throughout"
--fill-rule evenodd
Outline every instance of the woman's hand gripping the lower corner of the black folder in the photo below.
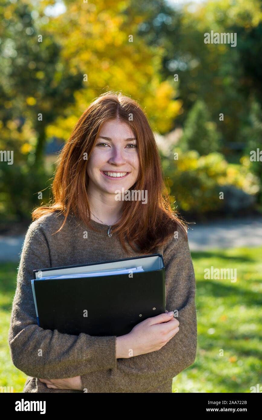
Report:
M 160 350 L 178 333 L 174 312 L 165 311 L 135 325 L 130 333 L 116 339 L 116 357 L 128 358 Z

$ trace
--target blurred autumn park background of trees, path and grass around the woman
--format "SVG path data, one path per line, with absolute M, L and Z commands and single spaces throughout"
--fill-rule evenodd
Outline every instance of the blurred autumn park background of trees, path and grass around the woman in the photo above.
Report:
M 211 31 L 236 46 L 204 43 Z M 1 154 L 0 386 L 21 392 L 26 379 L 7 334 L 31 211 L 51 197 L 74 124 L 108 90 L 147 113 L 170 201 L 190 223 L 198 350 L 173 391 L 262 383 L 261 51 L 261 0 L 2 1 L 0 150 L 13 164 Z M 236 268 L 236 283 L 205 280 L 211 266 Z

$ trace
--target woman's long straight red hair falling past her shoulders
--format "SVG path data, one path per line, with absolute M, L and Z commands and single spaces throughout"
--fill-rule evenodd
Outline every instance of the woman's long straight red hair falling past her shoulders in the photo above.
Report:
M 125 237 L 132 249 L 139 247 L 142 252 L 153 252 L 177 231 L 178 225 L 183 227 L 187 236 L 186 224 L 170 206 L 149 121 L 139 104 L 121 93 L 100 95 L 81 115 L 60 153 L 52 183 L 53 200 L 49 205 L 34 209 L 32 218 L 36 220 L 47 213 L 60 211 L 65 218 L 58 231 L 63 228 L 69 214 L 81 218 L 92 229 L 87 195 L 88 160 L 83 156 L 87 153 L 90 157 L 102 124 L 115 118 L 128 123 L 136 136 L 139 175 L 130 190 L 147 190 L 147 204 L 139 200 L 124 201 L 121 219 L 114 225 L 113 233 L 118 234 L 126 251 Z

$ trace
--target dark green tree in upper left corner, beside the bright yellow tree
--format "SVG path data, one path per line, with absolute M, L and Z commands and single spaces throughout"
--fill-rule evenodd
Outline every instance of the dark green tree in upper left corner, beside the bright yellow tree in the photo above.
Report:
M 37 170 L 46 128 L 75 101 L 73 93 L 81 87 L 82 77 L 61 62 L 59 43 L 42 25 L 45 14 L 31 3 L 5 1 L 0 18 L 1 140 L 16 150 L 16 164 L 31 152 L 28 163 Z

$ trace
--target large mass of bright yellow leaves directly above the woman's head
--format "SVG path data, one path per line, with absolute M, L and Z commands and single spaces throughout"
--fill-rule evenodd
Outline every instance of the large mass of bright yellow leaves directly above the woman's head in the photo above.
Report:
M 77 121 L 89 102 L 102 91 L 121 90 L 124 95 L 139 100 L 155 128 L 165 133 L 172 129 L 174 118 L 183 112 L 182 102 L 173 100 L 174 82 L 161 81 L 159 75 L 165 50 L 149 47 L 139 38 L 137 32 L 144 21 L 143 13 L 121 14 L 123 9 L 132 7 L 131 0 L 112 1 L 112 7 L 108 1 L 69 2 L 67 13 L 51 18 L 47 25 L 50 35 L 61 45 L 61 64 L 66 63 L 71 74 L 80 71 L 88 75 L 88 82 L 83 82 L 83 88 L 74 93 L 76 103 L 68 107 L 68 115 Z M 130 34 L 133 42 L 128 42 Z M 47 130 L 48 135 L 67 139 L 73 126 L 70 118 L 58 118 Z

